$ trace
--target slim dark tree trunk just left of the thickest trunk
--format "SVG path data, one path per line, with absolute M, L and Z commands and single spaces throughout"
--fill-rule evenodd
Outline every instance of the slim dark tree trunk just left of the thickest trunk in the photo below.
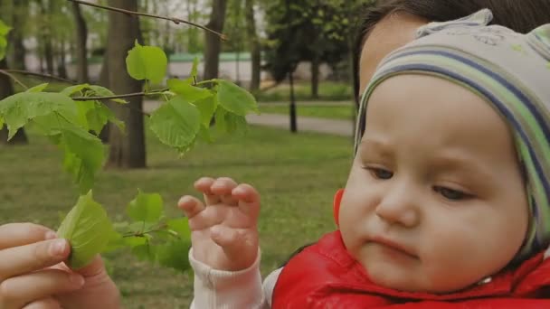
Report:
M 88 42 L 88 27 L 86 20 L 82 16 L 81 5 L 72 3 L 72 14 L 76 23 L 76 77 L 80 83 L 88 82 L 88 52 L 86 42 Z

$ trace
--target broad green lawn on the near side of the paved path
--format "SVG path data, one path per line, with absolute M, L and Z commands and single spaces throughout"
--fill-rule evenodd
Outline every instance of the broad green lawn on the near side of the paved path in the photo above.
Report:
M 77 200 L 77 190 L 61 172 L 57 149 L 28 131 L 31 145 L 0 149 L 0 224 L 33 221 L 56 227 Z M 193 182 L 201 175 L 232 176 L 251 183 L 262 193 L 259 229 L 266 276 L 294 249 L 335 228 L 332 197 L 346 182 L 351 154 L 351 140 L 346 137 L 291 135 L 251 126 L 248 136 L 199 144 L 179 158 L 148 134 L 148 168 L 101 172 L 94 197 L 111 219 L 124 220 L 124 209 L 137 188 L 159 192 L 166 211 L 177 215 L 176 201 L 184 193 L 194 193 Z M 108 262 L 126 308 L 188 308 L 193 297 L 191 275 L 153 267 L 127 252 L 110 254 Z

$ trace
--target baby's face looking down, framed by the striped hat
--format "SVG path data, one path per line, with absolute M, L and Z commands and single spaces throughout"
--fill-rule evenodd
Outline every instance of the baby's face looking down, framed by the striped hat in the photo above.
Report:
M 527 225 L 511 133 L 490 103 L 422 75 L 375 89 L 340 209 L 346 248 L 371 280 L 459 290 L 506 267 Z

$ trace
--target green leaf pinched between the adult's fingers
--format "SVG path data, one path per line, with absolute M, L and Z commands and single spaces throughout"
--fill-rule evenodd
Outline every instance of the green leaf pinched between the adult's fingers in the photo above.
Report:
M 87 266 L 112 238 L 114 229 L 101 205 L 93 201 L 91 191 L 79 201 L 62 221 L 57 235 L 71 243 L 69 265 L 72 268 Z

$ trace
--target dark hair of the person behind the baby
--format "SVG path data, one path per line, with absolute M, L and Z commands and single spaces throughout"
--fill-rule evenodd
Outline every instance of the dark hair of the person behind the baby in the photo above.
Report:
M 359 103 L 359 61 L 368 33 L 384 17 L 407 13 L 431 22 L 444 22 L 467 16 L 488 8 L 493 12 L 492 23 L 518 33 L 528 33 L 537 26 L 550 23 L 550 0 L 376 0 L 365 8 L 365 17 L 357 30 L 354 49 L 354 93 Z

